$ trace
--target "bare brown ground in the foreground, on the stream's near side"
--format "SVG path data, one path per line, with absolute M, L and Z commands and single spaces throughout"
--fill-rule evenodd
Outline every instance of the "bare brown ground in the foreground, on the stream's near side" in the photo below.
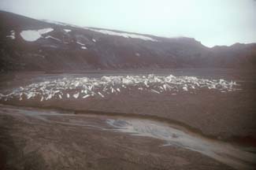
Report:
M 158 139 L 87 126 L 107 127 L 102 123 L 108 116 L 45 112 L 45 120 L 35 116 L 33 109 L 29 109 L 30 115 L 21 114 L 18 108 L 1 109 L 0 131 L 6 128 L 17 148 L 13 152 L 0 141 L 1 149 L 8 153 L 3 161 L 7 169 L 232 169 L 194 151 L 159 147 L 163 142 Z

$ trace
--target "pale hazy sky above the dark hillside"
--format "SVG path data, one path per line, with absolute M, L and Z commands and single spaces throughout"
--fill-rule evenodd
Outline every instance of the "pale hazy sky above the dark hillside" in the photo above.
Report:
M 0 0 L 0 9 L 80 26 L 192 37 L 205 46 L 256 42 L 256 0 Z

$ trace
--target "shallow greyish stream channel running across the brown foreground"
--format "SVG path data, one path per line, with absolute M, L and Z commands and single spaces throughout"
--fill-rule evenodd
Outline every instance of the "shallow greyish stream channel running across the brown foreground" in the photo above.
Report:
M 247 152 L 248 150 L 244 151 L 243 147 L 232 146 L 228 142 L 206 138 L 206 136 L 197 134 L 195 131 L 187 129 L 187 127 L 181 127 L 180 124 L 171 124 L 170 122 L 163 123 L 159 120 L 147 119 L 147 117 L 120 116 L 117 115 L 117 113 L 73 114 L 67 111 L 62 113 L 56 109 L 1 106 L 2 114 L 17 118 L 24 117 L 21 120 L 28 124 L 35 124 L 35 122 L 39 121 L 47 124 L 59 124 L 62 127 L 87 127 L 105 132 L 117 130 L 128 134 L 135 133 L 141 136 L 161 139 L 168 142 L 168 145 L 171 146 L 175 145 L 188 150 L 197 151 L 237 169 L 252 169 L 256 158 L 254 153 L 249 153 Z M 113 124 L 107 123 L 108 121 L 113 122 Z M 109 125 L 111 128 L 109 128 Z M 49 137 L 45 136 L 44 138 L 47 139 Z

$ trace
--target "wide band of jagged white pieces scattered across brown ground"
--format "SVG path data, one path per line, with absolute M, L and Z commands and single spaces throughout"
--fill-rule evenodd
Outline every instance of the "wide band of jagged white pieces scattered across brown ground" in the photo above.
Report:
M 178 93 L 195 94 L 196 91 L 220 91 L 229 93 L 241 90 L 239 84 L 224 79 L 198 79 L 195 76 L 102 76 L 100 78 L 80 77 L 54 79 L 41 83 L 32 83 L 26 87 L 17 87 L 9 94 L 0 94 L 0 100 L 17 98 L 24 100 L 41 98 L 40 101 L 54 99 L 82 98 L 98 95 L 105 98 L 109 94 L 119 94 L 123 91 L 148 91 L 157 94 Z M 64 95 L 65 94 L 65 95 Z

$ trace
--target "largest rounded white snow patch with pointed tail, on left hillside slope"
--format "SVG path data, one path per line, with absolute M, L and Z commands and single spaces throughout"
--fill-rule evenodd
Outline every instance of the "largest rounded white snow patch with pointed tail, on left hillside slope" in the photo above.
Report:
M 20 32 L 20 36 L 25 41 L 35 42 L 36 40 L 40 39 L 42 35 L 50 31 L 54 31 L 54 28 L 43 28 L 39 30 L 25 30 Z

